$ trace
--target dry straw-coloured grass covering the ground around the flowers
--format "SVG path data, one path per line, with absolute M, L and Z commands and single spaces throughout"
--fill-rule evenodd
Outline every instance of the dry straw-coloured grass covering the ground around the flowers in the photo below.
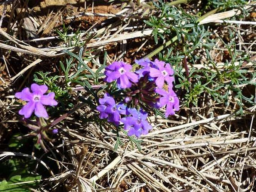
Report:
M 143 4 L 143 1 L 141 3 Z M 97 3 L 95 2 L 95 4 Z M 95 4 L 93 10 L 97 11 Z M 35 25 L 38 25 L 38 31 L 41 31 L 41 37 L 37 37 L 36 40 L 28 40 L 21 38 L 18 32 L 21 26 L 15 24 L 15 21 L 21 21 L 14 13 L 15 7 L 19 6 L 18 1 L 15 0 L 11 3 L 9 12 L 6 6 L 9 7 L 9 4 L 0 6 L 1 18 L 7 19 L 7 26 L 0 28 L 0 57 L 3 58 L 3 62 L 0 63 L 0 141 L 5 145 L 1 148 L 3 152 L 0 154 L 0 162 L 10 156 L 21 156 L 37 161 L 38 166 L 42 164 L 50 174 L 45 174 L 42 178 L 40 191 L 246 192 L 255 190 L 256 134 L 254 116 L 256 106 L 245 109 L 243 116 L 237 116 L 232 113 L 232 107 L 236 108 L 236 104 L 225 108 L 222 103 L 207 99 L 207 95 L 204 97 L 206 101 L 202 102 L 200 108 L 184 107 L 183 114 L 175 115 L 170 119 L 163 119 L 160 116 L 149 117 L 153 130 L 148 135 L 141 137 L 143 140 L 141 151 L 134 148 L 129 139 L 121 134 L 124 145 L 114 152 L 116 137 L 110 131 L 111 127 L 103 127 L 103 132 L 101 132 L 96 124 L 84 123 L 78 119 L 77 117 L 86 115 L 93 118 L 93 115 L 97 114 L 88 106 L 79 105 L 77 102 L 78 107 L 72 111 L 73 114 L 68 113 L 65 119 L 56 125 L 59 129 L 58 138 L 55 142 L 47 143 L 47 148 L 50 149 L 48 153 L 38 157 L 37 154 L 34 154 L 34 150 L 30 155 L 8 152 L 10 148 L 6 147 L 7 140 L 4 137 L 10 138 L 8 132 L 12 133 L 12 129 L 21 127 L 21 124 L 17 123 L 21 120 L 17 120 L 18 105 L 15 103 L 13 94 L 24 87 L 25 81 L 28 81 L 34 71 L 39 70 L 42 63 L 52 67 L 53 61 L 60 61 L 65 57 L 66 53 L 62 50 L 76 53 L 80 49 L 78 46 L 67 46 L 56 41 L 60 37 L 55 34 L 55 27 L 59 27 L 62 22 L 71 19 L 73 19 L 72 21 L 79 19 L 78 21 L 81 22 L 83 19 L 89 21 L 94 17 L 103 18 L 98 20 L 99 22 L 93 23 L 86 32 L 81 33 L 78 39 L 78 42 L 87 50 L 93 49 L 90 54 L 96 58 L 95 61 L 98 63 L 100 63 L 99 57 L 96 56 L 101 55 L 102 50 L 108 50 L 108 47 L 115 47 L 119 43 L 122 45 L 118 48 L 118 52 L 108 53 L 107 63 L 111 63 L 116 58 L 128 60 L 128 40 L 142 39 L 139 46 L 132 49 L 132 54 L 137 58 L 150 53 L 152 46 L 148 42 L 148 38 L 152 30 L 144 29 L 144 26 L 140 25 L 134 24 L 133 27 L 129 25 L 130 22 L 134 22 L 132 19 L 143 17 L 138 14 L 141 7 L 135 9 L 129 7 L 116 13 L 86 12 L 80 14 L 80 12 L 71 11 L 73 15 L 67 14 L 70 10 L 66 7 L 58 11 L 55 9 L 40 17 L 36 17 L 33 10 L 25 9 L 21 10 L 18 16 L 22 16 L 21 13 L 23 13 L 24 17 L 24 14 L 27 13 L 37 22 Z M 245 9 L 253 12 L 253 7 L 255 8 L 255 5 L 251 4 Z M 222 19 L 239 14 L 241 11 L 237 9 L 216 13 L 203 19 L 200 24 L 226 22 Z M 121 19 L 108 23 L 111 18 Z M 2 20 L 0 21 L 2 24 Z M 106 24 L 103 25 L 103 21 Z M 252 21 L 240 22 L 255 26 L 255 22 Z M 233 21 L 233 23 L 235 22 Z M 249 30 L 252 30 L 253 27 Z M 241 25 L 237 31 L 237 38 L 241 37 L 240 51 L 252 56 L 252 61 L 245 61 L 243 67 L 255 66 L 255 62 L 253 62 L 255 61 L 255 50 L 250 44 L 243 43 L 242 37 L 245 32 Z M 222 37 L 222 32 L 224 33 L 224 31 L 217 31 L 216 34 Z M 255 31 L 251 31 L 251 33 L 255 35 Z M 70 34 L 70 37 L 73 35 Z M 54 41 L 49 43 L 49 40 Z M 34 41 L 37 42 L 36 45 L 32 44 Z M 255 44 L 255 41 L 253 43 Z M 42 46 L 44 44 L 47 46 Z M 243 49 L 243 47 L 246 48 Z M 225 47 L 218 41 L 210 54 L 213 58 L 217 58 L 223 50 L 225 51 Z M 19 61 L 20 66 L 15 66 L 12 63 L 13 58 Z M 47 64 L 47 62 L 49 63 Z M 221 71 L 223 63 L 217 62 L 216 66 Z M 194 67 L 212 69 L 212 66 L 204 63 Z M 48 71 L 52 70 L 52 68 L 47 69 Z M 255 72 L 254 69 L 252 72 Z M 22 74 L 25 76 L 18 78 Z M 17 80 L 16 83 L 14 80 Z M 255 82 L 255 79 L 252 81 Z M 255 87 L 253 89 L 255 91 Z M 86 97 L 86 94 L 84 90 L 74 89 L 72 97 L 77 100 L 78 95 Z M 50 157 L 45 158 L 48 155 Z M 42 160 L 43 158 L 44 160 Z M 47 159 L 54 162 L 57 171 L 47 165 L 45 161 Z

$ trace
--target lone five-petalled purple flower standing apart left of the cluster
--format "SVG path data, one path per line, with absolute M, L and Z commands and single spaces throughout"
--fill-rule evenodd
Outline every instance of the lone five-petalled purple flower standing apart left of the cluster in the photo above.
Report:
M 43 105 L 55 106 L 58 104 L 54 100 L 55 94 L 50 92 L 48 95 L 44 95 L 48 90 L 46 85 L 38 85 L 33 83 L 31 85 L 31 91 L 28 87 L 24 88 L 21 92 L 15 94 L 15 97 L 27 101 L 27 104 L 19 110 L 20 115 L 24 115 L 25 118 L 29 118 L 33 111 L 37 117 L 47 118 L 48 114 Z

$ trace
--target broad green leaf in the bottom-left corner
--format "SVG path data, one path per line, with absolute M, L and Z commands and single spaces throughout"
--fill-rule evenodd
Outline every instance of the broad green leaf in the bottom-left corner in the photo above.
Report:
M 41 176 L 34 175 L 15 175 L 11 177 L 8 181 L 3 180 L 0 182 L 0 191 L 5 192 L 31 192 L 31 188 L 37 188 Z

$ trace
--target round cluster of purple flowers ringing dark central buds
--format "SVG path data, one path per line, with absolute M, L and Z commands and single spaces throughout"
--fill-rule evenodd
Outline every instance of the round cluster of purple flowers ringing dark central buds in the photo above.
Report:
M 123 90 L 123 103 L 127 106 L 166 107 L 166 117 L 174 115 L 179 110 L 179 99 L 173 91 L 174 71 L 170 64 L 149 59 L 135 61 L 140 67 L 135 72 L 132 66 L 124 62 L 113 62 L 105 68 L 105 81 L 116 81 L 118 89 Z M 152 127 L 146 120 L 147 113 L 142 109 L 126 107 L 123 103 L 116 104 L 114 97 L 105 93 L 99 99 L 97 110 L 100 118 L 116 126 L 124 124 L 128 135 L 137 137 L 147 134 Z M 137 107 L 138 108 L 138 107 Z

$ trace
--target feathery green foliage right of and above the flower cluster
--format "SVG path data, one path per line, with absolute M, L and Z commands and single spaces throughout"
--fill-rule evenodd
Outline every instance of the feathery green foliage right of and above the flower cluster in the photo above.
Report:
M 204 10 L 209 6 L 221 7 L 225 10 L 230 7 L 241 7 L 246 3 L 244 0 L 214 0 L 208 1 Z M 186 13 L 182 8 L 169 6 L 161 0 L 154 5 L 157 12 L 144 22 L 153 28 L 155 43 L 158 43 L 159 39 L 166 41 L 170 36 L 177 36 L 178 41 L 170 44 L 167 50 L 159 52 L 158 58 L 175 67 L 175 87 L 182 93 L 182 105 L 198 106 L 198 101 L 206 94 L 218 103 L 225 102 L 226 106 L 231 100 L 235 101 L 239 106 L 238 112 L 242 114 L 246 103 L 251 105 L 253 103 L 253 96 L 249 98 L 244 96 L 242 87 L 247 84 L 255 85 L 255 82 L 251 81 L 255 75 L 241 66 L 240 61 L 244 61 L 247 57 L 233 51 L 236 46 L 235 31 L 229 30 L 229 39 L 231 39 L 229 44 L 223 42 L 230 53 L 231 61 L 226 61 L 222 69 L 219 69 L 210 56 L 210 51 L 217 39 L 211 40 L 210 33 L 204 29 L 203 25 L 198 25 L 194 16 Z M 204 52 L 201 51 L 202 49 Z M 193 66 L 201 60 L 197 55 L 202 54 L 206 55 L 208 64 L 205 68 L 194 68 Z M 239 62 L 238 65 L 237 62 Z M 185 65 L 189 65 L 189 68 Z

